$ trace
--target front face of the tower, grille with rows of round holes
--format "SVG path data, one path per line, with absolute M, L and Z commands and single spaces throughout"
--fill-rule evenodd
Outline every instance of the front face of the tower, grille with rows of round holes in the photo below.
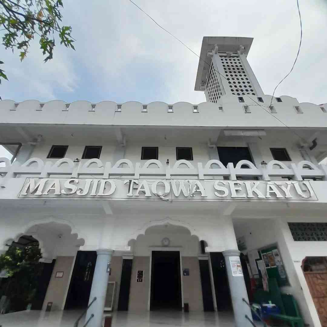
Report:
M 248 77 L 241 60 L 234 56 L 227 58 L 219 56 L 233 95 L 257 95 L 250 78 Z

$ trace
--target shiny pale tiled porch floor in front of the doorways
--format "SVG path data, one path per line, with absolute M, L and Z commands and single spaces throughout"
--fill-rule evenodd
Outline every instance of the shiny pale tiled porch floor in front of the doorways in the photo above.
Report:
M 80 311 L 21 311 L 0 315 L 2 327 L 73 327 Z M 234 319 L 230 312 L 114 312 L 112 327 L 233 327 Z M 79 326 L 83 326 L 82 320 Z M 251 326 L 245 322 L 245 327 Z M 92 321 L 88 327 L 92 325 Z

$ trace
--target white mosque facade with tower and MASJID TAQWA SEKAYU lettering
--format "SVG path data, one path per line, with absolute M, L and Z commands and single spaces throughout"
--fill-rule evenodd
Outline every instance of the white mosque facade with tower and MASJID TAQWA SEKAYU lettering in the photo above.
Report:
M 77 250 L 113 250 L 112 260 L 133 257 L 133 273 L 144 267 L 145 282 L 135 284 L 132 278 L 129 309 L 148 310 L 153 249 L 180 251 L 182 270 L 198 265 L 198 258 L 210 261 L 210 252 L 237 250 L 238 237 L 245 239 L 245 252 L 277 243 L 289 280 L 283 292 L 294 295 L 306 323 L 320 327 L 301 263 L 307 256 L 327 256 L 327 242 L 294 241 L 288 223 L 327 223 L 327 166 L 318 164 L 327 154 L 327 104 L 280 96 L 272 99 L 271 111 L 271 96 L 263 94 L 246 59 L 251 42 L 204 38 L 201 58 L 212 63 L 207 74 L 209 67 L 199 62 L 195 89 L 207 98 L 200 104 L 1 101 L 0 143 L 9 150 L 11 144 L 21 146 L 13 164 L 0 159 L 1 249 L 32 235 L 44 262 L 74 258 Z M 246 75 L 248 92 L 232 91 L 236 88 L 217 73 L 225 76 L 233 68 L 225 63 L 229 59 L 240 60 L 234 71 Z M 53 145 L 68 146 L 64 159 L 47 158 Z M 85 146 L 102 146 L 99 159 L 81 159 Z M 158 160 L 141 160 L 143 146 L 158 147 Z M 247 147 L 251 162 L 224 166 L 217 150 L 223 146 Z M 178 162 L 176 147 L 192 147 L 193 160 Z M 275 161 L 270 148 L 285 148 L 290 160 Z M 81 195 L 87 180 L 90 190 Z M 129 181 L 135 181 L 133 187 Z M 41 182 L 34 192 L 33 182 Z M 76 187 L 69 189 L 68 183 Z M 181 183 L 186 195 L 174 191 Z M 165 237 L 168 247 L 161 243 Z M 69 276 L 73 259 L 70 264 Z M 213 277 L 211 271 L 216 307 Z M 201 300 L 200 286 L 190 293 L 200 285 L 198 273 L 194 278 L 190 284 L 181 277 L 182 305 L 203 310 L 201 301 L 193 301 Z M 60 286 L 59 309 L 68 286 L 69 279 Z

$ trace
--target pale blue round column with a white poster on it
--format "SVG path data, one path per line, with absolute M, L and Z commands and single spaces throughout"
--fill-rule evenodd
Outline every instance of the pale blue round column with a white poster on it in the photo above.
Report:
M 230 264 L 230 258 L 239 257 L 240 253 L 241 252 L 239 250 L 223 251 L 223 255 L 225 257 L 225 262 L 226 262 L 229 289 L 231 291 L 231 298 L 232 298 L 236 327 L 244 327 L 249 324 L 249 321 L 247 321 L 245 315 L 247 315 L 252 320 L 250 308 L 245 302 L 242 301 L 242 299 L 244 298 L 249 303 L 244 277 L 242 275 L 233 276 L 232 267 Z

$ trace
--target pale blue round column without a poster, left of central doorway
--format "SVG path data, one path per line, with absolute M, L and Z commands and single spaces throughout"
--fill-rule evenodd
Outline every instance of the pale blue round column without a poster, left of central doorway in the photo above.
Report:
M 96 300 L 87 310 L 85 322 L 94 315 L 90 320 L 88 326 L 90 327 L 101 327 L 102 326 L 102 316 L 104 309 L 104 302 L 106 300 L 106 292 L 109 278 L 109 271 L 107 271 L 108 266 L 110 267 L 111 257 L 113 250 L 110 249 L 99 249 L 96 251 L 96 263 L 90 293 L 89 303 Z M 108 265 L 109 263 L 109 265 Z

